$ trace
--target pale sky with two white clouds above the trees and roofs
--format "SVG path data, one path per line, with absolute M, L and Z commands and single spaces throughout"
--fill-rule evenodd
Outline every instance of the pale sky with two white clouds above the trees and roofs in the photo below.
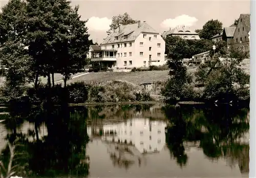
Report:
M 47 1 L 47 0 L 46 0 Z M 218 19 L 230 26 L 241 13 L 250 13 L 250 1 L 88 1 L 71 0 L 79 5 L 81 19 L 88 20 L 90 38 L 102 42 L 114 15 L 127 12 L 132 18 L 146 21 L 159 33 L 177 25 L 201 29 L 209 19 Z M 3 6 L 7 1 L 1 1 Z

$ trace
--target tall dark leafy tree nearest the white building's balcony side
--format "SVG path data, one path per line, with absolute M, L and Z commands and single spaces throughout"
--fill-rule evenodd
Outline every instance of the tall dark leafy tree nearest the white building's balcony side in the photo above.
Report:
M 61 73 L 65 81 L 84 66 L 89 40 L 86 21 L 80 20 L 78 7 L 67 0 L 28 0 L 29 51 L 38 76 Z M 54 78 L 52 78 L 54 84 Z M 65 82 L 66 83 L 66 82 Z

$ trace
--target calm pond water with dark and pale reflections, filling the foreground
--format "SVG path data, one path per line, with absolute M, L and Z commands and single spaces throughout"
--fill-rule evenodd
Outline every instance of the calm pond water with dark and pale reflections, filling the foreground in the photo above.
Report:
M 0 160 L 7 168 L 9 141 L 15 146 L 15 175 L 248 177 L 248 108 L 99 105 L 0 110 Z

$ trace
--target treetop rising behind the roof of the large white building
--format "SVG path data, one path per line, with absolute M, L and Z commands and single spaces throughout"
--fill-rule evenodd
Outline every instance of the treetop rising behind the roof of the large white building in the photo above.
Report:
M 112 17 L 110 30 L 117 29 L 119 25 L 129 25 L 129 24 L 136 24 L 136 23 L 138 23 L 138 21 L 133 19 L 129 14 L 125 12 L 122 15 L 119 14 Z

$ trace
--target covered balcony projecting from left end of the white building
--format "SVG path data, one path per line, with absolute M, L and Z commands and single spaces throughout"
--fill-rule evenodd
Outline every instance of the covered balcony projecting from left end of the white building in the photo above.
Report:
M 116 50 L 92 51 L 91 61 L 116 61 Z

